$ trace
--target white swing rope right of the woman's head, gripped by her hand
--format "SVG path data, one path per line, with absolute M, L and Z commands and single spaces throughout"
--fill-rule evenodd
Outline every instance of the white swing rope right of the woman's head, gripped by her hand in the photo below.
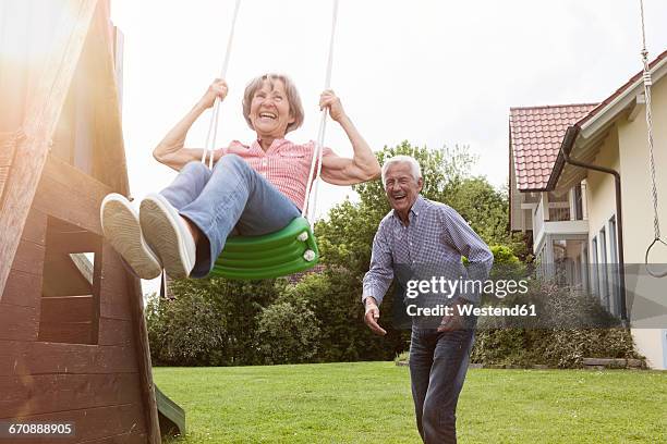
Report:
M 331 70 L 333 69 L 333 37 L 336 36 L 336 23 L 338 21 L 338 0 L 333 0 L 333 12 L 331 14 L 331 35 L 329 37 L 329 58 L 327 61 L 327 72 L 325 76 L 325 89 L 329 89 L 331 86 Z M 311 226 L 315 223 L 316 209 L 317 209 L 317 192 L 319 189 L 319 173 L 322 172 L 322 157 L 324 153 L 324 139 L 325 132 L 327 128 L 327 108 L 322 110 L 322 116 L 319 120 L 319 131 L 317 132 L 317 141 L 313 152 L 313 160 L 311 162 L 311 171 L 308 173 L 308 181 L 306 183 L 306 193 L 303 201 L 303 210 L 301 215 L 306 218 L 311 223 Z M 315 184 L 313 185 L 313 193 L 311 193 L 311 184 L 313 183 L 313 173 L 315 164 L 317 163 L 317 173 L 315 174 Z M 313 203 L 311 205 L 311 194 L 313 195 Z

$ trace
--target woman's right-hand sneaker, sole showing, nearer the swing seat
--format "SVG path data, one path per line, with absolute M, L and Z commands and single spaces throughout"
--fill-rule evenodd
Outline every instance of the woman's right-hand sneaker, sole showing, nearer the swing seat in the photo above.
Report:
M 187 278 L 195 264 L 196 246 L 177 209 L 162 195 L 149 194 L 140 206 L 140 223 L 167 274 L 174 279 Z

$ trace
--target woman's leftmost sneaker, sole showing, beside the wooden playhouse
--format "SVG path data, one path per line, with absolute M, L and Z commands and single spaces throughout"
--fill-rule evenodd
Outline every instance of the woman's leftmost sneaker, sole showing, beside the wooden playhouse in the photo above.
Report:
M 141 279 L 155 279 L 162 272 L 158 257 L 144 242 L 138 217 L 122 195 L 107 195 L 99 209 L 105 238 Z

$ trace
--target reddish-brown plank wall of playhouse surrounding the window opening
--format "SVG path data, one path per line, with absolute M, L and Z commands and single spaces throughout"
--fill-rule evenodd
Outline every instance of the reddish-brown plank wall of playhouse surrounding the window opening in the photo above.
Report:
M 48 217 L 100 235 L 99 205 L 109 190 L 48 158 L 0 300 L 0 420 L 74 421 L 76 437 L 59 442 L 148 440 L 128 273 L 108 244 L 98 264 L 97 345 L 38 341 Z

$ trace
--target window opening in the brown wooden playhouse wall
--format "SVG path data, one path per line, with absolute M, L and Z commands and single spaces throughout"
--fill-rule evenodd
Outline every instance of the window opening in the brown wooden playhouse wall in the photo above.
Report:
M 100 248 L 99 236 L 48 219 L 38 341 L 98 343 Z

